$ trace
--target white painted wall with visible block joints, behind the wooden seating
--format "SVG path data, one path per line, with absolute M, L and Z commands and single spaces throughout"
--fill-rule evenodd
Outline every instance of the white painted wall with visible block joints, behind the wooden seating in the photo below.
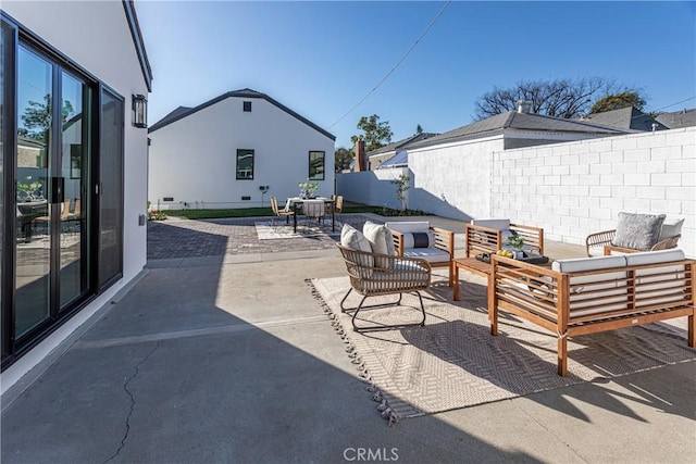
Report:
M 620 211 L 685 217 L 680 248 L 696 256 L 696 127 L 498 151 L 492 216 L 584 243 Z

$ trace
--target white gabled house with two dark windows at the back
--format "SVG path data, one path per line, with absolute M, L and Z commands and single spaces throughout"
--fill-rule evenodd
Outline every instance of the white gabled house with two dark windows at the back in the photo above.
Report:
M 265 93 L 179 106 L 149 128 L 152 209 L 268 206 L 316 181 L 334 193 L 336 137 Z

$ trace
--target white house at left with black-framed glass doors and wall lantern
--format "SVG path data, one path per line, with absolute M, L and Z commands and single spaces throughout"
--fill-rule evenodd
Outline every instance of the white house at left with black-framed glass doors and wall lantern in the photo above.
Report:
M 152 72 L 133 1 L 1 8 L 4 396 L 142 275 Z

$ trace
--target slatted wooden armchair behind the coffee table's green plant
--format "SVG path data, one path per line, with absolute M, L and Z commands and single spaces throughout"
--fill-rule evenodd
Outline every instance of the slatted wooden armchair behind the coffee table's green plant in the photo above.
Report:
M 464 248 L 467 258 L 478 253 L 492 253 L 506 247 L 509 234 L 524 239 L 526 250 L 544 254 L 544 229 L 512 224 L 510 220 L 474 220 L 464 226 Z

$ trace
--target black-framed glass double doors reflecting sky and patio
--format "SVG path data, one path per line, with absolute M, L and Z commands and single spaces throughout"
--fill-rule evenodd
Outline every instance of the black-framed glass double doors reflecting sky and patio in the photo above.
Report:
M 17 53 L 14 336 L 87 291 L 91 90 L 26 47 Z

